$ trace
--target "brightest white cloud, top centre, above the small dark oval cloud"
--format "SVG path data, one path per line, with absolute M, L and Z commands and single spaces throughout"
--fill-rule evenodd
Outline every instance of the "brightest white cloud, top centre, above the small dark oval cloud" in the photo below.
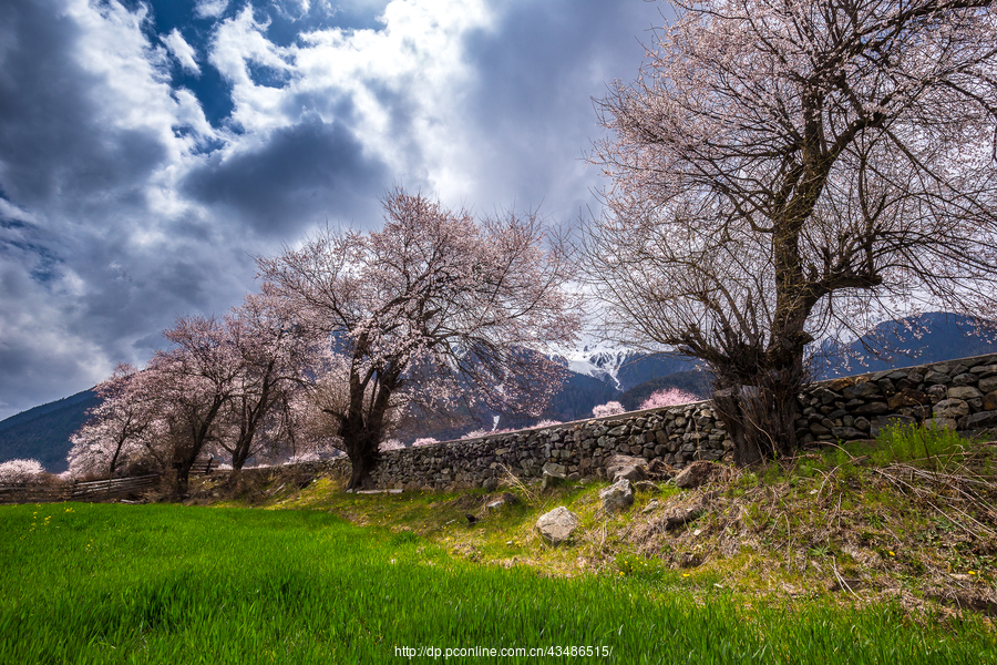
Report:
M 418 171 L 441 195 L 466 196 L 458 153 L 466 150 L 461 101 L 474 72 L 464 44 L 490 28 L 491 11 L 482 0 L 393 0 L 378 20 L 377 30 L 304 32 L 289 47 L 267 38 L 268 22 L 250 7 L 224 21 L 209 59 L 233 84 L 233 120 L 256 139 L 306 114 L 346 120 L 399 176 Z M 254 80 L 260 69 L 284 76 L 282 86 Z

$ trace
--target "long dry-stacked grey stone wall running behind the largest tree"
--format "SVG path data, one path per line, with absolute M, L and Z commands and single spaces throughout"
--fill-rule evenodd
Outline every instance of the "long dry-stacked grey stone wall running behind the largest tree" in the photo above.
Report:
M 960 431 L 997 427 L 997 355 L 832 379 L 800 395 L 796 436 L 804 442 L 874 438 L 891 422 L 935 423 Z M 489 487 L 506 474 L 599 477 L 615 454 L 682 468 L 731 449 L 711 402 L 634 411 L 542 429 L 405 448 L 382 453 L 379 489 Z M 346 460 L 327 464 L 345 471 Z

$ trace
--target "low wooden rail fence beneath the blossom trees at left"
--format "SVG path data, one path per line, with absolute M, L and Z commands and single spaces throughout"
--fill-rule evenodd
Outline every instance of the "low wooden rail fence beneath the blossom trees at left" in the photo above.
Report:
M 219 460 L 202 459 L 191 467 L 191 475 L 207 475 L 218 470 Z M 0 503 L 53 503 L 58 501 L 106 501 L 142 494 L 155 488 L 158 473 L 112 478 L 110 480 L 73 481 L 52 484 L 0 484 Z

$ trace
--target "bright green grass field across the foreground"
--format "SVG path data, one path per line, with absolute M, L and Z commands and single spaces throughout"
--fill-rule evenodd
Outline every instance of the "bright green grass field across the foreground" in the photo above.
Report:
M 702 602 L 676 572 L 541 576 L 327 512 L 0 507 L 0 663 L 988 663 L 975 618 Z M 702 581 L 700 580 L 701 584 Z M 696 598 L 701 598 L 701 594 Z M 402 648 L 439 649 L 409 657 Z M 580 647 L 593 655 L 557 656 Z

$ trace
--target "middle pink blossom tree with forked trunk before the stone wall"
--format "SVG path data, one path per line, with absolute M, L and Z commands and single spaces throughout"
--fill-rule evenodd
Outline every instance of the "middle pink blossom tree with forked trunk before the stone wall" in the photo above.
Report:
M 398 396 L 428 411 L 476 401 L 537 415 L 563 376 L 541 351 L 580 325 L 572 264 L 535 216 L 476 219 L 402 190 L 382 203 L 380 231 L 326 229 L 258 259 L 265 291 L 347 359 L 335 416 L 351 488 L 367 483 Z

